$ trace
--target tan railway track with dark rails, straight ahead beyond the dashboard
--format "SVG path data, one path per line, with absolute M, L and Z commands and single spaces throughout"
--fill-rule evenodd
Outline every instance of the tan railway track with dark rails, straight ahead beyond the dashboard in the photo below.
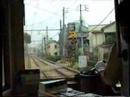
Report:
M 78 73 L 65 66 L 42 60 L 36 56 L 30 56 L 30 59 L 40 69 L 40 73 L 43 75 L 41 79 L 73 78 Z

